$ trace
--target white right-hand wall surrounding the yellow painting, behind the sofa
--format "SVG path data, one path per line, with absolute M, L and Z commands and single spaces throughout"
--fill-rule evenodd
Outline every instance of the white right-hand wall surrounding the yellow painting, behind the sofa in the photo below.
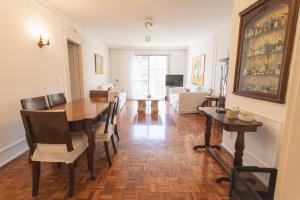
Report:
M 221 68 L 219 59 L 227 58 L 230 48 L 231 20 L 224 23 L 214 32 L 200 38 L 189 47 L 187 85 L 200 90 L 213 89 L 215 95 L 219 94 Z M 191 83 L 192 59 L 205 54 L 204 85 L 197 86 Z

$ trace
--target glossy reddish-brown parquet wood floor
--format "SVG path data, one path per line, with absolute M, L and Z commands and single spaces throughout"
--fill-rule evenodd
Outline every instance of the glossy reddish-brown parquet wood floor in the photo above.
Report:
M 90 180 L 86 156 L 76 167 L 76 190 L 72 199 L 228 199 L 228 183 L 214 180 L 226 175 L 205 151 L 193 145 L 204 141 L 204 117 L 177 115 L 160 103 L 159 115 L 137 114 L 128 102 L 120 113 L 118 153 L 108 167 L 102 144 L 96 146 L 95 172 Z M 220 137 L 213 137 L 216 143 Z M 111 153 L 113 151 L 111 150 Z M 0 199 L 66 199 L 66 166 L 42 164 L 40 191 L 31 197 L 31 165 L 27 153 L 0 169 Z

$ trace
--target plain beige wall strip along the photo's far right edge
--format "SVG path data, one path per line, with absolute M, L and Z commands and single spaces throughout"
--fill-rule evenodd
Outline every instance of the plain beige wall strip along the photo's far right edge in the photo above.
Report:
M 300 16 L 298 18 L 298 24 Z M 300 25 L 296 35 L 294 55 L 300 54 Z M 278 178 L 276 184 L 275 199 L 297 200 L 299 199 L 300 182 L 300 59 L 295 58 L 293 74 L 290 76 L 290 96 L 287 108 L 287 118 L 283 131 L 281 132 Z

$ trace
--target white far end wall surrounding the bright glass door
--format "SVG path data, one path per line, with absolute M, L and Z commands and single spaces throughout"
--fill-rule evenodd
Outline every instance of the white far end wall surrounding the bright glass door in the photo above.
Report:
M 112 79 L 118 79 L 119 85 L 127 87 L 127 98 L 131 98 L 131 67 L 134 55 L 166 54 L 169 55 L 169 73 L 183 74 L 186 77 L 187 51 L 185 49 L 112 49 L 110 63 Z M 185 82 L 185 81 L 184 81 Z

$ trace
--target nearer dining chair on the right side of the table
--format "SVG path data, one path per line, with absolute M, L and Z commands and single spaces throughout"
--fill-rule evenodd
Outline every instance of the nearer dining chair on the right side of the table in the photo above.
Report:
M 112 166 L 110 153 L 109 153 L 109 141 L 111 140 L 114 152 L 117 153 L 115 138 L 114 138 L 114 108 L 116 106 L 116 100 L 109 102 L 108 112 L 106 114 L 105 123 L 98 123 L 95 128 L 95 141 L 96 143 L 104 142 L 104 148 L 106 153 L 106 159 L 109 166 Z

